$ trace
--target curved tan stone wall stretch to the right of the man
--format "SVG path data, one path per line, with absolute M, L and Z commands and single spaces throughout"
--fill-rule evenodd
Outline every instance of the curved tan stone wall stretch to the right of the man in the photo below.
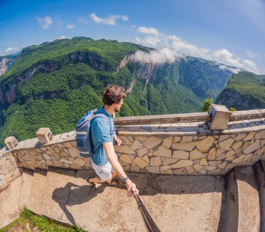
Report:
M 224 175 L 265 159 L 264 119 L 229 122 L 224 131 L 204 122 L 123 126 L 120 135 L 119 161 L 134 172 Z

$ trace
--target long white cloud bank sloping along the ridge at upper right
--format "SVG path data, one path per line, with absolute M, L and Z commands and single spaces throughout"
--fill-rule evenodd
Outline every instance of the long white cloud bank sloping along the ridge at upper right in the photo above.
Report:
M 240 59 L 234 57 L 232 52 L 229 52 L 229 50 L 223 48 L 220 50 L 210 50 L 209 48 L 199 48 L 196 45 L 192 43 L 188 43 L 188 41 L 183 41 L 182 38 L 176 36 L 176 35 L 167 35 L 162 34 L 158 29 L 153 27 L 139 27 L 138 32 L 142 34 L 146 34 L 144 36 L 136 36 L 134 40 L 132 40 L 135 43 L 139 43 L 141 45 L 145 45 L 148 47 L 156 48 L 158 51 L 162 50 L 163 48 L 168 48 L 169 50 L 172 50 L 172 52 L 169 52 L 168 55 L 172 55 L 172 59 L 179 58 L 180 54 L 190 55 L 192 57 L 202 57 L 204 59 L 211 59 L 213 61 L 217 61 L 222 64 L 226 64 L 228 66 L 235 66 L 236 68 L 230 68 L 232 72 L 239 71 L 238 68 L 245 69 L 246 71 L 251 71 L 254 73 L 259 73 L 259 69 L 257 68 L 257 65 L 248 59 Z M 254 52 L 253 52 L 254 53 Z M 251 55 L 253 55 L 253 53 Z M 176 55 L 179 54 L 179 55 Z M 156 54 L 156 56 L 161 55 L 161 52 Z M 146 55 L 149 57 L 150 55 Z M 165 60 L 167 62 L 170 62 L 171 59 L 167 57 L 163 57 L 164 55 L 161 55 L 159 60 Z M 142 55 L 143 57 L 143 55 Z M 147 59 L 146 57 L 143 57 L 142 60 Z M 153 60 L 153 59 L 148 59 Z M 221 69 L 228 69 L 229 67 L 221 66 Z

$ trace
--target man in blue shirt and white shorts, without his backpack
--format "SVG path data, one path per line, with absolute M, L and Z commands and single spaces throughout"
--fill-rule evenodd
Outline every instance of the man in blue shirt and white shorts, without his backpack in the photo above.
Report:
M 109 85 L 103 92 L 103 102 L 105 106 L 98 109 L 97 113 L 105 114 L 104 117 L 96 117 L 91 121 L 91 138 L 93 143 L 93 157 L 91 157 L 92 168 L 96 171 L 97 175 L 93 178 L 87 178 L 86 180 L 95 186 L 96 183 L 107 182 L 114 184 L 112 179 L 119 175 L 121 180 L 126 184 L 127 196 L 134 196 L 133 193 L 138 194 L 139 190 L 136 189 L 135 184 L 127 177 L 123 171 L 121 164 L 118 161 L 118 157 L 114 151 L 113 139 L 116 141 L 116 145 L 121 145 L 121 140 L 116 136 L 115 126 L 112 115 L 115 112 L 120 112 L 123 104 L 123 99 L 126 98 L 126 93 L 122 87 L 117 85 Z M 116 182 L 119 184 L 119 182 Z M 132 193 L 133 192 L 133 193 Z

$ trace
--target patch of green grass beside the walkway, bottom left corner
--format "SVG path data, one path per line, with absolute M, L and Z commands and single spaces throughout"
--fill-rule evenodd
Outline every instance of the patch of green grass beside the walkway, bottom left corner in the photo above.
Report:
M 20 217 L 15 219 L 14 222 L 8 226 L 0 229 L 0 232 L 11 232 L 11 231 L 29 231 L 31 229 L 38 229 L 41 232 L 85 232 L 84 229 L 78 226 L 72 226 L 67 224 L 61 224 L 59 222 L 48 219 L 47 217 L 36 215 L 27 208 L 23 208 L 20 213 Z

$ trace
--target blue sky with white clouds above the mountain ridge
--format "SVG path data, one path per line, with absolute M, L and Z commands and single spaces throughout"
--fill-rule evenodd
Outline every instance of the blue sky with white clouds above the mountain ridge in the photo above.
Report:
M 212 59 L 265 74 L 264 0 L 0 0 L 0 56 L 86 36 Z

